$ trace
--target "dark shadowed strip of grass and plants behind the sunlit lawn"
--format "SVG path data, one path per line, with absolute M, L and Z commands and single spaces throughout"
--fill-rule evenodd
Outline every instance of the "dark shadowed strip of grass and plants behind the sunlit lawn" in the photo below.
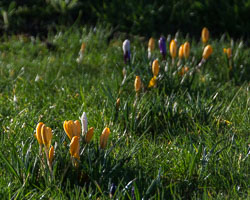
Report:
M 0 10 L 2 33 L 46 36 L 58 25 L 102 22 L 115 31 L 143 36 L 181 30 L 198 38 L 204 26 L 213 36 L 250 36 L 250 0 L 2 0 Z

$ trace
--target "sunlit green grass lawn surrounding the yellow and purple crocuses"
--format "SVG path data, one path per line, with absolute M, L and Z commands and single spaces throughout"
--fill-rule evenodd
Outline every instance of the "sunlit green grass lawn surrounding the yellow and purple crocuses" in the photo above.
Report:
M 108 44 L 108 36 L 103 27 L 58 31 L 48 37 L 54 49 L 38 38 L 2 38 L 1 199 L 108 199 L 112 184 L 116 199 L 133 199 L 132 188 L 136 199 L 249 197 L 250 49 L 234 42 L 230 71 L 222 51 L 230 41 L 210 39 L 214 52 L 192 78 L 178 74 L 169 50 L 162 61 L 156 48 L 161 78 L 148 89 L 147 41 L 130 38 L 132 61 L 125 65 L 125 38 Z M 188 40 L 191 53 L 185 65 L 193 69 L 202 44 Z M 178 38 L 178 45 L 184 41 Z M 78 64 L 82 42 L 86 49 Z M 127 78 L 122 85 L 123 68 Z M 145 86 L 138 97 L 136 75 Z M 63 122 L 79 119 L 82 112 L 95 131 L 75 168 Z M 34 137 L 40 121 L 53 130 L 52 180 Z M 100 150 L 106 126 L 111 134 L 107 148 Z

